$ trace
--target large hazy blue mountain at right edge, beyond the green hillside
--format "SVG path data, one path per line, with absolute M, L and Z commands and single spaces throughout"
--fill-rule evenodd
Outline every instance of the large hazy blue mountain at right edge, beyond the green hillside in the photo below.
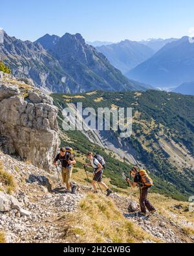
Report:
M 155 87 L 179 86 L 194 80 L 194 43 L 188 36 L 167 43 L 151 58 L 129 71 L 128 77 Z

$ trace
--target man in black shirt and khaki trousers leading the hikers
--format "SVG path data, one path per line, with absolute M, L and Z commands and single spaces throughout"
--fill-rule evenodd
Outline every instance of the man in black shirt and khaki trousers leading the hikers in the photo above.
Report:
M 69 149 L 69 148 L 68 148 Z M 76 160 L 72 156 L 71 152 L 65 148 L 61 148 L 59 154 L 55 157 L 53 165 L 57 167 L 57 161 L 61 161 L 62 171 L 61 176 L 63 182 L 67 185 L 67 192 L 71 192 L 74 194 L 76 192 L 76 186 L 72 185 L 70 182 L 70 178 L 72 176 L 73 165 L 76 164 Z M 70 148 L 71 149 L 71 148 Z M 72 150 L 72 149 L 71 149 Z

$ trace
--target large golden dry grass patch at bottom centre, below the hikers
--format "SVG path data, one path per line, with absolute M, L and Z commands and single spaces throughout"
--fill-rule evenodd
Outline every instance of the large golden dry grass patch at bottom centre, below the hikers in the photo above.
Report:
M 60 222 L 64 225 L 64 240 L 70 242 L 158 242 L 129 222 L 112 200 L 93 193 L 81 200 L 77 213 L 66 214 Z

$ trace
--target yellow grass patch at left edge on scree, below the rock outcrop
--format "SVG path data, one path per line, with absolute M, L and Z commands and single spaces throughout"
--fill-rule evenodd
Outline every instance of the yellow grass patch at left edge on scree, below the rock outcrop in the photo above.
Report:
M 4 170 L 3 163 L 0 161 L 0 182 L 3 184 L 3 188 L 6 193 L 11 194 L 16 189 L 16 183 L 12 174 L 9 174 Z

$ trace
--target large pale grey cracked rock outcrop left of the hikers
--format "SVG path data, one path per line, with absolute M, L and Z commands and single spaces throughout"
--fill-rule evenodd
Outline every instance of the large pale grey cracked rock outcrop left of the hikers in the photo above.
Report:
M 25 82 L 0 80 L 0 146 L 49 170 L 59 146 L 58 108 L 51 97 Z

